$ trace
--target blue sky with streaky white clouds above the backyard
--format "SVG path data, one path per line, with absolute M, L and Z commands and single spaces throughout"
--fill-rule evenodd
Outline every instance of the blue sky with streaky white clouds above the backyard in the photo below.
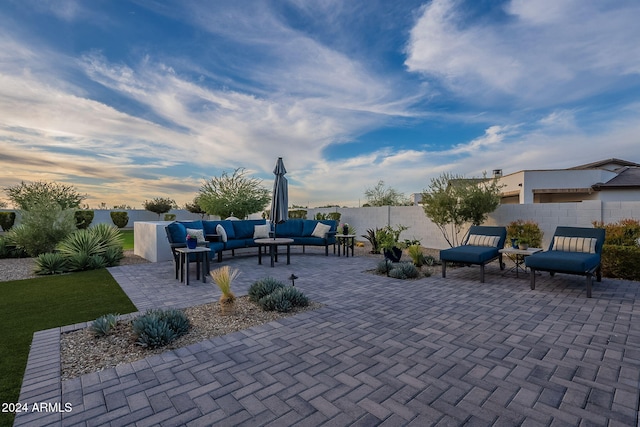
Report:
M 640 162 L 636 0 L 0 2 L 0 187 L 358 206 L 443 172 Z

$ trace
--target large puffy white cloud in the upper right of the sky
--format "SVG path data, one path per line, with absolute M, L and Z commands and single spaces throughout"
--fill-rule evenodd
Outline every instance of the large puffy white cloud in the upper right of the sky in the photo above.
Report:
M 470 20 L 434 0 L 411 30 L 406 66 L 473 102 L 509 96 L 538 105 L 580 99 L 640 72 L 634 1 L 512 0 L 501 20 Z

